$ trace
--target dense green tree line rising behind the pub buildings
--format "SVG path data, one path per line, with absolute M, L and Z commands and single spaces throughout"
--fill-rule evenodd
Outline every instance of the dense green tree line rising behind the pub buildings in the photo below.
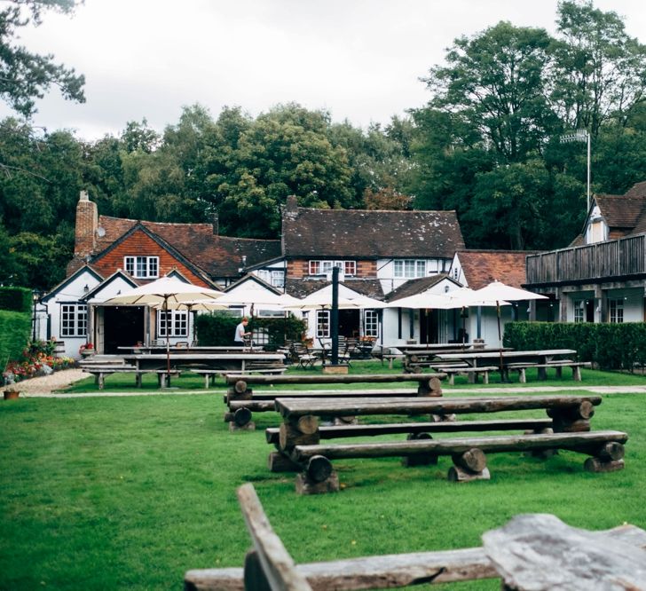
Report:
M 646 180 L 646 46 L 587 0 L 560 2 L 556 25 L 456 39 L 422 79 L 428 104 L 367 130 L 297 104 L 255 118 L 187 106 L 161 134 L 143 120 L 93 142 L 7 118 L 0 282 L 64 277 L 81 189 L 108 216 L 217 213 L 229 236 L 278 238 L 295 194 L 313 208 L 455 209 L 469 248 L 567 246 L 586 215 L 587 154 L 563 134 L 590 134 L 593 192 Z

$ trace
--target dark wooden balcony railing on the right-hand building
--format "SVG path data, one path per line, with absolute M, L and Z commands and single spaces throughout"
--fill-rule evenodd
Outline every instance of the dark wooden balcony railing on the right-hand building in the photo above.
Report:
M 646 273 L 646 234 L 527 256 L 526 285 Z

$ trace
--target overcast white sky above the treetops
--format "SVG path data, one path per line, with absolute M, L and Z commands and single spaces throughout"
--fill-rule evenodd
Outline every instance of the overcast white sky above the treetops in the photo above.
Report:
M 445 48 L 500 20 L 554 32 L 557 0 L 86 0 L 21 42 L 86 78 L 84 105 L 53 89 L 34 123 L 78 138 L 146 117 L 162 130 L 195 102 L 256 116 L 295 101 L 334 121 L 387 123 L 422 106 Z M 595 0 L 646 43 L 644 0 Z M 11 112 L 0 103 L 0 117 Z

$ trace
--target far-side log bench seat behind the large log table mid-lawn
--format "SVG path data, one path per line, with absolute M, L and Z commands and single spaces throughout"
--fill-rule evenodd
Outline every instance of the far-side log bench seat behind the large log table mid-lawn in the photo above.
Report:
M 501 421 L 398 422 L 375 425 L 334 425 L 319 427 L 321 439 L 378 437 L 397 433 L 458 433 L 460 431 L 541 431 L 552 427 L 551 419 L 508 419 Z M 280 429 L 265 429 L 267 443 L 278 445 Z

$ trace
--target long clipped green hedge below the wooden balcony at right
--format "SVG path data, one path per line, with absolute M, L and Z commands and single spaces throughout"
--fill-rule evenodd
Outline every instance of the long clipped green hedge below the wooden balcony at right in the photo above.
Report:
M 632 371 L 646 364 L 646 323 L 510 322 L 504 344 L 520 351 L 576 349 L 579 361 Z

